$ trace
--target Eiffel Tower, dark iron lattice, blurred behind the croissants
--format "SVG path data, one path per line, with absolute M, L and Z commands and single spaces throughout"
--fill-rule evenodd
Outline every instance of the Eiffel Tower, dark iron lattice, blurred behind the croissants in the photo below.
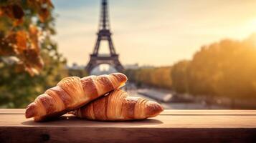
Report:
M 110 54 L 99 54 L 100 41 L 108 41 L 108 46 Z M 90 54 L 90 61 L 88 62 L 85 70 L 87 73 L 90 72 L 100 64 L 109 64 L 115 67 L 117 71 L 123 71 L 123 66 L 120 64 L 118 59 L 118 54 L 115 52 L 113 42 L 111 39 L 110 32 L 110 22 L 108 19 L 108 2 L 107 0 L 102 0 L 101 3 L 101 14 L 100 14 L 100 26 L 98 31 L 98 39 L 96 41 L 95 47 L 93 49 L 93 54 Z

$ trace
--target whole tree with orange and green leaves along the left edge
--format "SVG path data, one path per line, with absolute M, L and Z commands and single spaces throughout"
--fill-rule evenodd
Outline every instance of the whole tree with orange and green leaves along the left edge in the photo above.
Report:
M 0 2 L 0 107 L 26 107 L 67 76 L 49 0 Z

